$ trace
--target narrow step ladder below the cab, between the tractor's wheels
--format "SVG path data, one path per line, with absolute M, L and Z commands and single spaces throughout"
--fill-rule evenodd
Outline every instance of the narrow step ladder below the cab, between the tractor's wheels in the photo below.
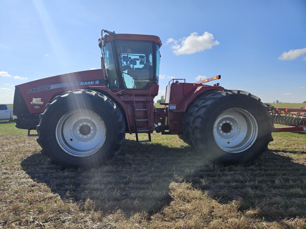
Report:
M 151 98 L 151 96 L 150 96 Z M 145 143 L 145 142 L 151 142 L 151 132 L 149 128 L 149 118 L 148 118 L 148 109 L 147 109 L 147 104 L 149 102 L 149 95 L 148 95 L 148 101 L 139 101 L 139 104 L 143 104 L 144 108 L 138 109 L 136 108 L 136 101 L 135 101 L 135 96 L 134 93 L 132 94 L 132 104 L 134 105 L 134 121 L 135 121 L 135 135 L 136 135 L 136 142 L 139 143 Z M 137 103 L 137 104 L 138 104 Z M 137 118 L 139 115 L 137 113 L 145 113 L 145 117 Z M 137 127 L 137 122 L 146 122 L 146 128 L 145 129 L 139 129 Z M 147 133 L 148 134 L 148 140 L 138 140 L 138 133 Z

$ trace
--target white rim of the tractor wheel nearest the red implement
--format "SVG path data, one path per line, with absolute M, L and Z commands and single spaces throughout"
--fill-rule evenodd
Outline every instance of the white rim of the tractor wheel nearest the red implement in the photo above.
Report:
M 215 142 L 226 152 L 239 153 L 247 150 L 254 144 L 257 135 L 256 119 L 241 108 L 223 111 L 214 122 Z

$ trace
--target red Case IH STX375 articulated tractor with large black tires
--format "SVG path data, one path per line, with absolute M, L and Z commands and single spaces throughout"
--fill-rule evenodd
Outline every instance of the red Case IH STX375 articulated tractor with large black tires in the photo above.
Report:
M 159 49 L 153 35 L 102 30 L 101 69 L 17 85 L 14 121 L 36 129 L 41 153 L 60 167 L 97 167 L 121 150 L 125 133 L 150 142 L 151 133 L 177 134 L 214 162 L 239 164 L 258 157 L 273 140 L 267 105 L 248 92 L 173 79 L 164 108 L 159 91 Z M 147 140 L 138 140 L 145 133 Z

